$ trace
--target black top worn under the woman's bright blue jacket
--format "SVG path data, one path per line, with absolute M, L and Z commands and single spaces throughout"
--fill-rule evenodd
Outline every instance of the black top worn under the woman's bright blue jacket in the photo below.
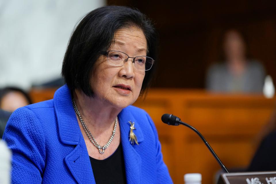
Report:
M 110 157 L 104 160 L 97 160 L 90 156 L 89 158 L 97 184 L 127 183 L 122 143 Z

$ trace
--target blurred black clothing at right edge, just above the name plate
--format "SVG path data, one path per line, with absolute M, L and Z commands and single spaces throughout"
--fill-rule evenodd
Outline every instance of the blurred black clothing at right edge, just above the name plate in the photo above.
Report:
M 276 170 L 276 131 L 267 135 L 256 151 L 248 171 Z

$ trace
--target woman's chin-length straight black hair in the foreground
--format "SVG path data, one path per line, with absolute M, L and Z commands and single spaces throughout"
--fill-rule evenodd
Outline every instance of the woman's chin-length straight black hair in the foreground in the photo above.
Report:
M 147 16 L 137 9 L 104 6 L 89 12 L 75 28 L 64 56 L 62 75 L 70 90 L 80 88 L 87 96 L 94 95 L 90 86 L 91 72 L 99 58 L 114 42 L 120 28 L 136 26 L 145 34 L 147 56 L 157 58 L 158 35 Z M 150 85 L 155 67 L 145 72 L 141 94 Z

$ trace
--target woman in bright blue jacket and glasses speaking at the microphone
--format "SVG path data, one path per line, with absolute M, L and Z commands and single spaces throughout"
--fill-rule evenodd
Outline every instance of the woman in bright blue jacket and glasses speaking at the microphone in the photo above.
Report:
M 137 10 L 107 6 L 74 30 L 54 98 L 16 110 L 3 139 L 13 183 L 172 183 L 149 115 L 156 32 Z

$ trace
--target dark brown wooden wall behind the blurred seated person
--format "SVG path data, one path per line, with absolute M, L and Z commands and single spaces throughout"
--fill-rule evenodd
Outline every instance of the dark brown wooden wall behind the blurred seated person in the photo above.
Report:
M 276 1 L 108 0 L 136 7 L 156 23 L 160 57 L 154 87 L 204 88 L 207 68 L 221 61 L 229 28 L 242 31 L 248 55 L 276 81 Z

